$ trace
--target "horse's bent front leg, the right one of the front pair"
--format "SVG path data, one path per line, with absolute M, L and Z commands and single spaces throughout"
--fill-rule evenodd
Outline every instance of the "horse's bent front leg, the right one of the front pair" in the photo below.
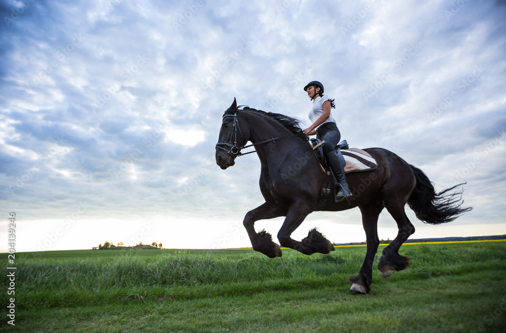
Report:
M 312 255 L 313 253 L 328 254 L 330 251 L 334 251 L 332 243 L 316 229 L 309 231 L 308 236 L 302 241 L 290 237 L 292 232 L 301 225 L 306 216 L 312 211 L 311 207 L 305 202 L 295 202 L 290 206 L 283 225 L 278 232 L 281 246 L 293 248 L 305 255 Z

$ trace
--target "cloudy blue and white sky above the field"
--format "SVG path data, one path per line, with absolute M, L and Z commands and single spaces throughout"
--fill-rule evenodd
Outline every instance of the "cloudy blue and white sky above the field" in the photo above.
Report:
M 506 234 L 504 1 L 2 0 L 0 14 L 0 252 L 249 247 L 260 162 L 216 164 L 223 112 L 236 98 L 308 127 L 312 80 L 351 147 L 395 152 L 437 191 L 467 183 L 473 211 L 451 223 L 406 206 L 411 238 Z M 395 237 L 386 210 L 378 226 Z M 365 241 L 358 208 L 292 236 L 313 227 Z

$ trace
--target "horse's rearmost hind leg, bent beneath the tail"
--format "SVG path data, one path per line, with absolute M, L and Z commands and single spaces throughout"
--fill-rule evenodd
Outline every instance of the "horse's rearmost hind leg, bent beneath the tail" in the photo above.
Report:
M 401 256 L 399 248 L 414 233 L 414 226 L 404 211 L 406 201 L 389 200 L 385 202 L 384 200 L 384 203 L 390 215 L 395 219 L 397 228 L 399 229 L 395 239 L 383 249 L 383 254 L 379 257 L 378 269 L 381 272 L 381 277 L 386 278 L 396 271 L 409 267 L 411 258 Z

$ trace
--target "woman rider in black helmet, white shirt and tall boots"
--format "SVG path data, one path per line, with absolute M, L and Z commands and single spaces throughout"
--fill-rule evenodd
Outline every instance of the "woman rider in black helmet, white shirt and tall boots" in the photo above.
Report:
M 335 193 L 335 202 L 345 200 L 352 193 L 348 188 L 344 172 L 344 158 L 335 152 L 335 146 L 341 140 L 341 133 L 330 114 L 330 108 L 335 108 L 334 100 L 323 94 L 323 85 L 318 81 L 311 81 L 304 87 L 304 91 L 313 101 L 313 107 L 309 111 L 309 119 L 313 124 L 303 132 L 306 135 L 317 135 L 324 141 L 323 153 L 327 157 L 330 169 L 339 182 L 340 189 Z

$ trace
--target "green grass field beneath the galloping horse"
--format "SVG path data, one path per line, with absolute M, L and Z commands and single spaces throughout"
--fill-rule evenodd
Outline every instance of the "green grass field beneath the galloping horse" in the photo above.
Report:
M 379 248 L 381 251 L 383 247 Z M 504 332 L 506 242 L 404 245 L 411 267 L 349 290 L 365 246 L 16 254 L 19 332 Z M 379 256 L 377 256 L 379 257 Z M 0 255 L 7 263 L 7 254 Z M 377 258 L 376 263 L 377 265 Z M 5 270 L 4 270 L 5 272 Z

